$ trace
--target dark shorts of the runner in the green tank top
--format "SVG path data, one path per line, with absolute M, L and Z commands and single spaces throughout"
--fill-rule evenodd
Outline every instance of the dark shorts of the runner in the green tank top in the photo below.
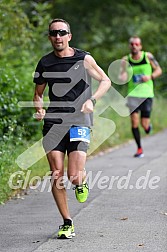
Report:
M 149 118 L 152 110 L 153 98 L 128 97 L 127 106 L 130 113 L 141 112 L 141 117 Z

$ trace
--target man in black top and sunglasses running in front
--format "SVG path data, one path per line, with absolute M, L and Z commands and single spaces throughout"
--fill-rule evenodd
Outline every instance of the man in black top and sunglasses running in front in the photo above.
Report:
M 54 51 L 39 61 L 34 82 L 34 104 L 37 120 L 44 118 L 43 146 L 52 172 L 52 193 L 64 224 L 59 238 L 72 238 L 74 224 L 63 186 L 64 158 L 67 151 L 67 176 L 74 184 L 76 198 L 85 202 L 89 188 L 86 182 L 86 151 L 96 100 L 110 88 L 111 82 L 89 53 L 69 46 L 72 38 L 69 24 L 54 19 L 49 24 L 49 40 Z M 92 95 L 91 77 L 99 82 Z M 43 93 L 49 86 L 50 104 L 43 108 Z

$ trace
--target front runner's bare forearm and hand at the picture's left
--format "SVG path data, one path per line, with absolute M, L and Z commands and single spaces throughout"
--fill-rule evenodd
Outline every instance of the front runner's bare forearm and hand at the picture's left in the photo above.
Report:
M 45 110 L 43 109 L 43 92 L 45 90 L 46 84 L 36 85 L 34 92 L 34 107 L 37 111 L 36 118 L 37 120 L 42 120 L 45 116 Z

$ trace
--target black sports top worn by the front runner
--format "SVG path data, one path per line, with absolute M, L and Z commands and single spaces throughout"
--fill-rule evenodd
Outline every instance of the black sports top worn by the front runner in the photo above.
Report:
M 80 112 L 82 104 L 91 97 L 91 77 L 84 67 L 88 52 L 74 48 L 74 55 L 57 57 L 51 52 L 41 58 L 34 82 L 49 86 L 50 105 L 45 123 L 64 125 L 92 125 L 92 113 Z

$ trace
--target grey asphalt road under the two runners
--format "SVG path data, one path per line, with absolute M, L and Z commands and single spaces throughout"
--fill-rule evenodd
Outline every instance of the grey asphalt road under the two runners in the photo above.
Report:
M 67 190 L 73 239 L 56 238 L 62 220 L 49 185 L 0 206 L 0 251 L 166 252 L 167 130 L 142 142 L 144 158 L 133 158 L 131 141 L 87 161 L 87 202 Z

